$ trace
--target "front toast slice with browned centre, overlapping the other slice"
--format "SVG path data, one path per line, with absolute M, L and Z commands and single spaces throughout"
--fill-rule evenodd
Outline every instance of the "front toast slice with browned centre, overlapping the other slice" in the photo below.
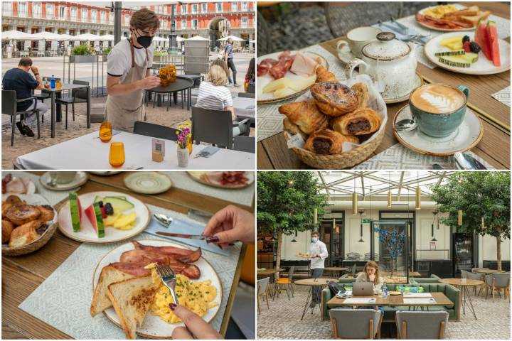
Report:
M 138 325 L 142 325 L 158 288 L 159 285 L 153 283 L 151 275 L 127 279 L 108 286 L 108 296 L 127 338 L 134 339 L 137 336 L 135 330 Z

